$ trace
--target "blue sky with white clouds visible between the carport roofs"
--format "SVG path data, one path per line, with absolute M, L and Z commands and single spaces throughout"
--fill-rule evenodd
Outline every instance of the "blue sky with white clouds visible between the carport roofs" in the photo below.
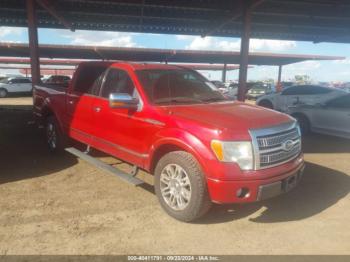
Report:
M 239 51 L 240 39 L 227 37 L 161 35 L 125 32 L 102 32 L 66 29 L 39 29 L 39 43 L 93 45 L 114 47 L 143 47 L 188 50 Z M 28 43 L 26 28 L 0 27 L 0 42 Z M 338 61 L 306 61 L 283 67 L 282 80 L 294 79 L 295 75 L 308 75 L 314 82 L 350 82 L 350 44 L 318 43 L 283 40 L 251 39 L 251 52 L 284 54 L 314 54 L 344 56 Z M 201 71 L 211 80 L 220 80 L 221 72 Z M 254 66 L 248 71 L 248 80 L 277 79 L 275 66 Z M 238 71 L 230 71 L 228 80 L 237 80 Z

